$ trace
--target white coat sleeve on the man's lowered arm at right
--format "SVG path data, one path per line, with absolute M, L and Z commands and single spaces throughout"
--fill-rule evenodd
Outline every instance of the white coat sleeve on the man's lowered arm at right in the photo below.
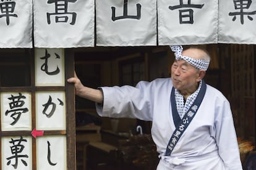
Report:
M 241 169 L 239 147 L 237 144 L 236 130 L 233 115 L 228 100 L 220 100 L 216 107 L 216 143 L 219 154 L 227 169 Z

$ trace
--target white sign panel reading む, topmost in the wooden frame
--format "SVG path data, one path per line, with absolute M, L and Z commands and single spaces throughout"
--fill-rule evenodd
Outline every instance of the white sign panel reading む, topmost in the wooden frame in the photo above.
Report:
M 64 49 L 35 49 L 35 85 L 65 86 Z

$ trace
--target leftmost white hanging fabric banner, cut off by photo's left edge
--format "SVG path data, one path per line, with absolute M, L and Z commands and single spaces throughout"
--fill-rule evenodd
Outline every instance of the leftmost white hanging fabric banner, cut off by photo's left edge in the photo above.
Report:
M 0 48 L 32 48 L 32 0 L 0 1 Z

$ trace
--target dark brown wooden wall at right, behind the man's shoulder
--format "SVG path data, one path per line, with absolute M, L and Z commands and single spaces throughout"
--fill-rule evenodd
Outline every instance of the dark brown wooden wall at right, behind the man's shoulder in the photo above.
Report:
M 231 102 L 237 136 L 255 142 L 255 45 L 219 44 L 221 87 Z

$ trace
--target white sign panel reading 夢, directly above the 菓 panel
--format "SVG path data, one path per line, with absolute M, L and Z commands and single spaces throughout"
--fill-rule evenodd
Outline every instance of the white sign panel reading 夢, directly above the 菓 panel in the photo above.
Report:
M 31 94 L 27 92 L 1 93 L 2 131 L 30 131 L 32 129 Z

